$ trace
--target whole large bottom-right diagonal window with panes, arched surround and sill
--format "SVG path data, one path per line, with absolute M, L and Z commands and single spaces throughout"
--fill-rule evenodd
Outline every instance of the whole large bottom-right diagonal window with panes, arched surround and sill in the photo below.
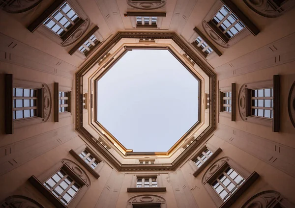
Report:
M 216 206 L 228 208 L 258 177 L 255 171 L 249 173 L 231 158 L 221 157 L 207 168 L 202 182 Z

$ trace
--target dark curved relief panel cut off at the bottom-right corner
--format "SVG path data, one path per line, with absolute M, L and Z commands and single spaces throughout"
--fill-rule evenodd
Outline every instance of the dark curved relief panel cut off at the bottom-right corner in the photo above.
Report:
M 241 208 L 294 208 L 290 202 L 282 198 L 277 191 L 263 191 L 251 197 Z

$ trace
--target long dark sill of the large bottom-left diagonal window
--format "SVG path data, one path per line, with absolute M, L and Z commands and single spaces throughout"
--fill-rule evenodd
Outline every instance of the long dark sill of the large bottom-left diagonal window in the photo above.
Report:
M 40 193 L 42 193 L 55 207 L 57 208 L 67 208 L 62 204 L 58 198 L 56 198 L 35 176 L 29 178 L 29 182 L 36 188 Z

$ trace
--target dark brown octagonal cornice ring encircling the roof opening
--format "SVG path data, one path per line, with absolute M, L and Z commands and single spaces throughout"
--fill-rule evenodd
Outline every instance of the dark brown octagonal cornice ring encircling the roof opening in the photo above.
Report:
M 113 156 L 103 145 L 96 142 L 96 139 L 83 127 L 83 95 L 80 94 L 81 86 L 83 86 L 83 76 L 105 55 L 114 47 L 122 38 L 145 38 L 145 39 L 171 39 L 177 46 L 181 48 L 209 77 L 209 94 L 210 100 L 216 100 L 216 74 L 210 69 L 203 60 L 188 46 L 189 44 L 180 38 L 175 32 L 142 32 L 142 31 L 118 31 L 113 37 L 104 43 L 104 45 L 97 50 L 96 54 L 86 62 L 75 74 L 75 87 L 76 87 L 76 130 L 85 139 L 91 143 L 96 150 L 105 157 L 118 171 L 173 171 L 190 156 L 201 143 L 203 143 L 210 134 L 216 129 L 216 102 L 211 103 L 209 109 L 209 127 L 204 130 L 194 142 L 185 149 L 185 151 L 178 156 L 171 164 L 152 164 L 152 165 L 139 165 L 139 164 L 122 164 L 118 159 Z M 199 95 L 201 97 L 201 95 Z

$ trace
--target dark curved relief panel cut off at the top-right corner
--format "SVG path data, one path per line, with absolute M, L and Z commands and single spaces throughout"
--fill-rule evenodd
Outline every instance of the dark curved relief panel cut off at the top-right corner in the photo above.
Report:
M 257 14 L 275 18 L 281 16 L 284 12 L 291 9 L 295 2 L 293 0 L 285 0 L 285 2 L 274 2 L 274 0 L 243 0 L 244 3 Z M 279 4 L 279 5 L 278 5 Z

